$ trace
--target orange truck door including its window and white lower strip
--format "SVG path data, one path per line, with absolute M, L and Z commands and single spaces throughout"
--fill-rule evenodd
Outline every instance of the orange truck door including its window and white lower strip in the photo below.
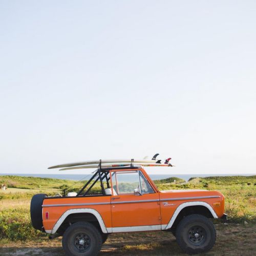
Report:
M 161 229 L 159 194 L 140 170 L 112 171 L 111 183 L 113 232 Z

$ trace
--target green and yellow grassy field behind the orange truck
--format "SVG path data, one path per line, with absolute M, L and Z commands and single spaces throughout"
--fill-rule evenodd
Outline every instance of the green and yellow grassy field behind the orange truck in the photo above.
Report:
M 160 190 L 218 190 L 225 196 L 225 211 L 229 222 L 242 224 L 256 222 L 256 176 L 191 178 L 188 182 L 172 177 L 154 182 Z M 69 191 L 77 191 L 83 186 L 84 181 L 73 183 L 73 180 L 0 176 L 0 184 L 7 185 L 7 190 L 0 189 L 0 240 L 37 241 L 46 237 L 46 234 L 35 230 L 31 225 L 30 199 L 37 193 L 54 196 L 69 187 Z M 99 182 L 94 189 L 95 192 L 100 189 Z

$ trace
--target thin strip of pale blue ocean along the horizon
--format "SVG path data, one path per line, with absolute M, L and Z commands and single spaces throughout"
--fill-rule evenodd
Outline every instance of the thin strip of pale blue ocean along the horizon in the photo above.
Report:
M 51 179 L 60 179 L 60 180 L 89 180 L 93 174 L 12 174 L 12 173 L 3 173 L 0 176 L 22 176 L 22 177 L 38 177 L 38 178 L 51 178 Z M 253 176 L 255 174 L 148 174 L 152 180 L 162 180 L 167 179 L 170 177 L 177 177 L 188 181 L 190 178 L 205 178 L 205 177 L 212 177 L 212 176 Z

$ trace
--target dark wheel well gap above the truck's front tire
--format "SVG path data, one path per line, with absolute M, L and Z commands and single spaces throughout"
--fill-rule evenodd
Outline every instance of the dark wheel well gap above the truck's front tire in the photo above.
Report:
M 205 216 L 206 218 L 214 218 L 214 216 L 212 216 L 210 210 L 207 207 L 203 206 L 203 205 L 187 206 L 179 212 L 177 218 L 175 219 L 175 222 L 174 222 L 173 226 L 170 229 L 175 231 L 179 222 L 184 217 L 186 217 L 188 215 L 191 215 L 191 214 L 200 214 L 200 215 Z

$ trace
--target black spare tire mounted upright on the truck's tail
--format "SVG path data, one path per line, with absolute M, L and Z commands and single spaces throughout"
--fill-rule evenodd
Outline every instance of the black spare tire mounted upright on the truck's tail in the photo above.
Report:
M 42 230 L 42 202 L 47 197 L 46 194 L 36 194 L 30 203 L 30 218 L 35 229 Z

